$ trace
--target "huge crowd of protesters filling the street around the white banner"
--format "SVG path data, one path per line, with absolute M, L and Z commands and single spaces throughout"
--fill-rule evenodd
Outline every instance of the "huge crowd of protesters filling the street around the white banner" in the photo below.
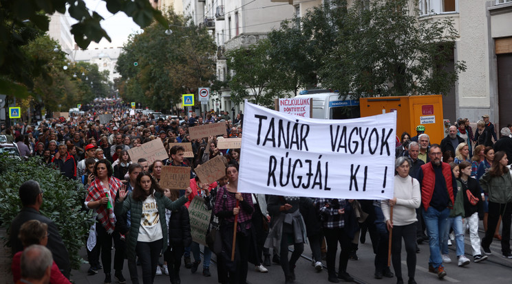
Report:
M 113 115 L 113 119 L 100 123 L 98 116 L 103 113 Z M 447 275 L 442 263 L 451 262 L 451 241 L 456 245 L 458 265 L 468 265 L 465 228 L 469 228 L 475 263 L 491 254 L 493 239 L 500 239 L 503 257 L 512 259 L 512 179 L 507 168 L 512 138 L 509 128 L 502 128 L 502 138 L 496 141 L 488 115 L 478 121 L 474 133 L 469 120 L 459 119 L 439 144 L 429 141 L 425 126 L 416 128 L 415 137 L 404 132 L 396 147 L 394 198 L 370 202 L 239 193 L 240 151 L 218 149 L 217 141 L 242 137 L 242 119 L 242 115 L 231 119 L 227 112 L 217 115 L 213 110 L 191 113 L 183 120 L 153 119 L 142 113 L 130 116 L 128 108 L 105 101 L 81 117 L 43 120 L 34 127 L 17 125 L 6 134 L 17 141 L 23 156 L 40 156 L 44 165 L 80 180 L 87 188 L 84 207 L 94 211 L 96 221 L 86 244 L 88 273 L 103 269 L 105 284 L 112 283 L 113 276 L 118 283 L 127 282 L 122 271 L 125 259 L 131 283 L 139 283 L 137 265 L 142 268 L 142 283 L 153 283 L 162 274 L 169 275 L 171 283 L 181 283 L 182 261 L 192 273 L 202 262 L 202 275 L 208 277 L 212 253 L 217 257 L 218 283 L 246 283 L 248 263 L 257 272 L 266 273 L 270 259 L 281 265 L 285 283 L 293 283 L 307 239 L 314 270 L 321 271 L 322 261 L 326 261 L 328 281 L 354 281 L 349 260 L 358 259 L 357 244 L 365 241 L 366 230 L 375 254 L 375 278 L 396 277 L 398 284 L 404 283 L 402 244 L 407 252 L 409 284 L 416 283 L 416 253 L 423 241 L 429 244 L 428 270 L 439 279 Z M 226 134 L 190 138 L 189 128 L 208 123 L 225 123 Z M 169 158 L 151 164 L 145 158 L 131 161 L 131 148 L 154 139 L 162 140 Z M 191 143 L 193 158 L 184 158 L 184 147 L 171 144 L 187 142 Z M 215 156 L 226 157 L 226 175 L 211 184 L 202 182 L 193 168 Z M 179 191 L 162 187 L 165 165 L 191 167 L 190 186 Z M 21 250 L 31 245 L 47 246 L 52 251 L 55 262 L 50 265 L 50 279 L 67 280 L 70 276 L 69 266 L 59 261 L 67 257 L 65 248 L 54 245 L 62 243 L 58 229 L 51 220 L 39 216 L 42 192 L 33 180 L 20 188 L 23 210 L 10 230 L 11 244 L 15 244 L 12 250 L 17 252 L 12 264 L 14 281 L 20 279 Z M 187 210 L 195 196 L 204 198 L 205 209 L 211 210 L 205 236 L 209 244 L 202 248 L 203 258 L 202 245 L 192 240 Z M 486 232 L 481 243 L 479 220 L 484 220 Z M 288 246 L 293 246 L 290 256 Z M 394 273 L 387 265 L 388 250 Z

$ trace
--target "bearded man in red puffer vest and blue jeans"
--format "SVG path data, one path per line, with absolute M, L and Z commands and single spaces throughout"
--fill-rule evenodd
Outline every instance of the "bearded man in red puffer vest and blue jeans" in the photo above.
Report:
M 438 144 L 429 149 L 430 162 L 418 171 L 421 185 L 421 210 L 429 235 L 429 272 L 436 273 L 439 279 L 446 276 L 442 266 L 440 244 L 445 235 L 450 208 L 454 204 L 454 189 L 457 183 L 451 167 L 441 162 L 442 152 Z

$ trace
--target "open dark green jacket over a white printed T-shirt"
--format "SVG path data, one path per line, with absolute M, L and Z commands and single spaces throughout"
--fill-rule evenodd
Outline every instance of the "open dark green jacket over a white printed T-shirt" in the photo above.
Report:
M 165 252 L 165 250 L 167 250 L 167 222 L 165 222 L 165 209 L 169 209 L 171 211 L 178 210 L 187 201 L 189 201 L 189 198 L 182 196 L 178 198 L 178 200 L 172 202 L 162 193 L 155 192 L 155 200 L 158 206 L 158 217 L 160 219 L 160 226 L 162 226 L 162 235 L 164 236 L 163 251 Z M 114 213 L 116 215 L 124 215 L 128 211 L 130 211 L 131 226 L 126 240 L 127 257 L 128 259 L 135 260 L 135 247 L 137 246 L 140 218 L 142 216 L 142 201 L 137 201 L 131 198 L 131 193 L 123 202 L 116 201 L 116 206 L 114 207 Z

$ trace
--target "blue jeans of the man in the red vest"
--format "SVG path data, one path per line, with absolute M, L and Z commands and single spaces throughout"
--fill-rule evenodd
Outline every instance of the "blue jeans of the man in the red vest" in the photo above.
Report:
M 427 233 L 429 235 L 429 247 L 430 257 L 429 264 L 434 268 L 442 266 L 441 258 L 441 247 L 440 239 L 446 233 L 446 224 L 448 222 L 448 216 L 450 209 L 446 208 L 443 211 L 437 211 L 434 207 L 429 206 L 429 209 L 423 210 L 423 220 L 425 220 L 425 226 L 427 227 Z

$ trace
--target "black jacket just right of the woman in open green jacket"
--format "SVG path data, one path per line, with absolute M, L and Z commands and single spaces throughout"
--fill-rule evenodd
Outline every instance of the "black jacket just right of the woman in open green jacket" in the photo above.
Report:
M 167 228 L 169 229 L 169 248 L 175 246 L 186 248 L 192 244 L 189 210 L 185 206 L 181 206 L 177 211 L 173 211 Z

